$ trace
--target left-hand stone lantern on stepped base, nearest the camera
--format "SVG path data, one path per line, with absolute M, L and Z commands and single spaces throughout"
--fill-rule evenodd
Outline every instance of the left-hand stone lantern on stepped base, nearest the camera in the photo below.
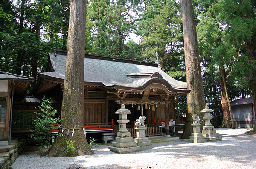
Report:
M 131 133 L 126 128 L 126 123 L 129 122 L 127 114 L 131 114 L 130 110 L 125 109 L 125 105 L 122 104 L 121 109 L 115 113 L 119 114 L 119 120 L 117 122 L 121 124 L 121 127 L 117 133 L 115 142 L 112 142 L 112 146 L 109 146 L 108 149 L 119 154 L 139 151 L 140 147 L 136 145 L 136 142 L 133 142 L 133 137 L 131 137 Z

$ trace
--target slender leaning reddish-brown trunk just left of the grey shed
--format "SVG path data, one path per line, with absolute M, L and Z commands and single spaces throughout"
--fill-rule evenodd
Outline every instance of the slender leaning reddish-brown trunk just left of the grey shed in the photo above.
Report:
M 220 81 L 220 85 L 221 85 L 221 100 L 222 100 L 222 112 L 223 112 L 223 124 L 222 127 L 223 128 L 231 128 L 231 118 L 230 118 L 230 112 L 229 112 L 229 105 L 228 105 L 228 100 L 227 100 L 227 96 L 226 96 L 226 92 L 225 92 L 225 88 L 227 88 L 227 86 L 225 86 L 224 80 L 226 76 L 224 68 L 222 68 L 221 66 L 219 66 L 219 81 Z

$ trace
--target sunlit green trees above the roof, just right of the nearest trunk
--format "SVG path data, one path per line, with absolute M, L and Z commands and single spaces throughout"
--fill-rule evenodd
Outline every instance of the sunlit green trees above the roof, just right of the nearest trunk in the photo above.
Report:
M 91 34 L 87 38 L 90 42 L 87 50 L 93 54 L 127 58 L 125 40 L 135 28 L 131 10 L 127 0 L 91 0 L 87 6 L 87 31 Z

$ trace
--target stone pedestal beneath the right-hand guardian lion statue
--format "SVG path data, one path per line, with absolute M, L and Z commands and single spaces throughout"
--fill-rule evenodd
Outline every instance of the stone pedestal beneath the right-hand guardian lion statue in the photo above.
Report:
M 204 138 L 203 134 L 200 130 L 200 123 L 193 123 L 191 124 L 193 127 L 193 133 L 189 136 L 189 142 L 191 143 L 205 143 L 206 139 Z

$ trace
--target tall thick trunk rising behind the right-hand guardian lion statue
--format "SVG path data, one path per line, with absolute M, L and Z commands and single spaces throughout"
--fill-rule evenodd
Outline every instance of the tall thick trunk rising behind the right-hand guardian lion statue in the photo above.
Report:
M 192 115 L 198 114 L 200 119 L 203 119 L 200 111 L 204 109 L 205 101 L 192 1 L 180 0 L 180 6 L 183 23 L 187 89 L 191 90 L 187 94 L 186 123 L 181 135 L 181 138 L 187 139 L 192 133 Z

